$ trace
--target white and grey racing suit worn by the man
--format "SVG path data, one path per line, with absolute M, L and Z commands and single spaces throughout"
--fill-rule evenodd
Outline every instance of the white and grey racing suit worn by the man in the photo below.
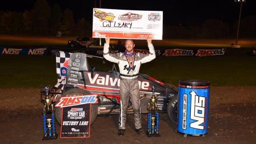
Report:
M 107 61 L 118 63 L 120 71 L 120 114 L 119 129 L 125 129 L 127 106 L 129 97 L 133 106 L 135 129 L 141 129 L 141 106 L 139 100 L 138 73 L 142 63 L 150 62 L 155 58 L 154 46 L 148 45 L 149 54 L 142 53 L 109 53 L 109 45 L 105 43 L 103 57 Z

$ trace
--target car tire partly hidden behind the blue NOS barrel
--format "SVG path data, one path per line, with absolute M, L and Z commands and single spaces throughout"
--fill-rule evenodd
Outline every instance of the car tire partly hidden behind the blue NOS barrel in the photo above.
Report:
M 177 124 L 178 121 L 178 94 L 175 94 L 174 97 L 170 100 L 167 105 L 167 115 L 171 122 Z

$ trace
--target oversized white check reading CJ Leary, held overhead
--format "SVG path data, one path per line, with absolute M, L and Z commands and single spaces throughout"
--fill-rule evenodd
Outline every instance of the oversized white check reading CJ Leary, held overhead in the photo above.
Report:
M 163 11 L 93 9 L 93 38 L 158 39 Z

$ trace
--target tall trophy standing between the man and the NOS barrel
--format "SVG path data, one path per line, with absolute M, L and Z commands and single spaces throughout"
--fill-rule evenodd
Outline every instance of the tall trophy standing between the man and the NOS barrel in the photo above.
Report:
M 159 113 L 157 99 L 155 97 L 155 86 L 152 87 L 152 96 L 147 106 L 147 137 L 160 137 L 159 134 Z

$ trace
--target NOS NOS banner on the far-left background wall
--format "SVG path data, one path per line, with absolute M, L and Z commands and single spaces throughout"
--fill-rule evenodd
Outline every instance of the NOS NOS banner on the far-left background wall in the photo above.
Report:
M 38 48 L 12 48 L 12 47 L 0 47 L 1 54 L 11 54 L 11 55 L 44 55 L 47 54 L 46 47 Z

